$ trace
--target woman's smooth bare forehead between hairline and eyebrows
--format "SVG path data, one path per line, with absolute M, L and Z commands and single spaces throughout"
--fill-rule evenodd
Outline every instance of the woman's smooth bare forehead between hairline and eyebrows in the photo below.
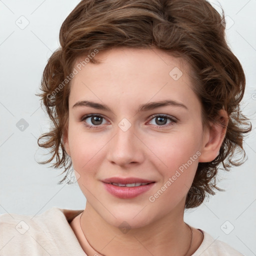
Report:
M 192 91 L 190 66 L 182 58 L 156 48 L 99 51 L 94 56 L 99 64 L 88 61 L 89 57 L 81 56 L 75 61 L 78 73 L 71 81 L 72 102 L 89 97 L 116 107 L 128 106 L 131 100 L 147 102 L 167 98 L 198 103 Z

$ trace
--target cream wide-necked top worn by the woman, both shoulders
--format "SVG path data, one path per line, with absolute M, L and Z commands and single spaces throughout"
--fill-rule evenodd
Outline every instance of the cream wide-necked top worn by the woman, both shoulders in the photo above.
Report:
M 34 217 L 0 214 L 0 256 L 87 256 L 69 225 L 82 211 L 52 207 Z M 200 231 L 203 241 L 191 256 L 243 256 L 228 244 Z

